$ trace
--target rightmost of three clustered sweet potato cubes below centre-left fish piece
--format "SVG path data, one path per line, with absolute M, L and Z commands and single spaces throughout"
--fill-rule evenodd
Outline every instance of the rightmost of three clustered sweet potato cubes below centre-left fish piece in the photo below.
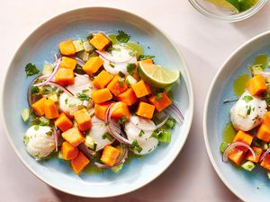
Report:
M 73 113 L 76 124 L 81 131 L 85 131 L 92 127 L 91 117 L 87 110 L 77 110 Z

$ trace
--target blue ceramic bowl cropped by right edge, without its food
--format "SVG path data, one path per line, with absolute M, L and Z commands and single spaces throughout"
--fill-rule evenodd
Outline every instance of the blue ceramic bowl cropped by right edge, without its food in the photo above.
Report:
M 263 53 L 270 55 L 270 32 L 247 41 L 221 66 L 211 83 L 204 108 L 203 133 L 211 163 L 225 185 L 244 201 L 269 201 L 270 180 L 266 170 L 260 166 L 249 172 L 221 161 L 222 130 L 230 121 L 229 110 L 233 105 L 223 104 L 222 101 L 236 98 L 232 91 L 233 82 L 238 75 L 250 75 L 248 64 L 252 64 L 254 57 Z

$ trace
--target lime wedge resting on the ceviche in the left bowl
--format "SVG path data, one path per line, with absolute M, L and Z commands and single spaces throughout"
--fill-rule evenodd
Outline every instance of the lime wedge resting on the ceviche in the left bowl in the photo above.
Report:
M 167 85 L 175 83 L 179 79 L 180 72 L 140 61 L 139 76 L 153 87 L 164 88 Z

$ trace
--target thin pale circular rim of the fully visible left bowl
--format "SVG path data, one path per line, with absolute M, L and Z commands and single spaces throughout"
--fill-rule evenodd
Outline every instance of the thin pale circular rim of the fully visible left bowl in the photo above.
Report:
M 23 47 L 23 45 L 26 43 L 26 41 L 29 40 L 29 39 L 31 39 L 31 36 L 36 31 L 39 31 L 40 29 L 42 29 L 43 26 L 46 26 L 46 25 L 48 26 L 48 24 L 51 21 L 54 21 L 56 18 L 59 18 L 62 15 L 66 15 L 67 13 L 75 13 L 75 12 L 77 13 L 77 12 L 80 12 L 82 10 L 91 10 L 91 9 L 107 9 L 107 10 L 111 10 L 111 11 L 113 10 L 115 12 L 129 14 L 129 15 L 131 15 L 131 16 L 139 19 L 140 21 L 145 22 L 145 23 L 148 23 L 151 26 L 153 26 L 155 29 L 157 29 L 158 32 L 160 32 L 166 38 L 166 40 L 168 40 L 171 43 L 171 45 L 175 48 L 175 51 L 176 51 L 177 56 L 180 57 L 180 59 L 181 59 L 181 61 L 183 63 L 183 66 L 184 66 L 184 72 L 185 72 L 185 75 L 186 75 L 185 83 L 186 83 L 186 86 L 188 87 L 187 93 L 188 93 L 188 96 L 189 96 L 189 111 L 190 111 L 189 112 L 190 113 L 189 119 L 185 119 L 185 121 L 187 121 L 187 127 L 186 127 L 186 130 L 183 131 L 183 134 L 182 134 L 182 136 L 184 136 L 184 141 L 182 141 L 182 143 L 180 145 L 178 145 L 178 150 L 175 151 L 174 155 L 170 156 L 170 160 L 167 162 L 167 164 L 163 168 L 161 168 L 152 179 L 146 180 L 143 183 L 140 183 L 137 186 L 134 186 L 132 189 L 125 189 L 125 190 L 119 191 L 119 192 L 114 193 L 114 194 L 111 194 L 111 195 L 100 194 L 99 196 L 97 196 L 97 195 L 92 196 L 91 194 L 78 194 L 78 193 L 76 193 L 74 191 L 70 191 L 70 190 L 67 190 L 67 189 L 59 189 L 56 184 L 53 184 L 52 182 L 50 182 L 50 180 L 47 180 L 46 178 L 42 177 L 39 174 L 39 172 L 34 171 L 28 165 L 28 163 L 26 161 L 24 161 L 24 159 L 21 156 L 21 154 L 19 154 L 18 150 L 15 148 L 13 139 L 11 138 L 11 136 L 9 136 L 7 125 L 6 125 L 6 121 L 4 119 L 4 89 L 5 89 L 6 79 L 7 79 L 6 76 L 10 72 L 10 66 L 12 66 L 12 64 L 14 62 L 14 58 L 18 55 L 19 50 Z M 164 171 L 166 171 L 166 169 L 175 161 L 175 158 L 178 156 L 178 154 L 180 154 L 180 151 L 182 150 L 182 148 L 184 146 L 184 143 L 186 142 L 187 136 L 189 135 L 189 132 L 190 132 L 190 129 L 191 129 L 191 126 L 192 126 L 192 122 L 193 122 L 193 109 L 194 109 L 194 104 L 193 104 L 193 83 L 192 83 L 192 79 L 191 79 L 191 76 L 190 76 L 190 73 L 189 73 L 188 66 L 186 64 L 186 61 L 184 59 L 184 56 L 183 56 L 182 52 L 180 52 L 179 48 L 177 48 L 175 46 L 175 43 L 173 42 L 173 40 L 169 36 L 167 36 L 167 34 L 165 33 L 165 31 L 160 30 L 157 27 L 156 24 L 154 24 L 153 22 L 149 22 L 148 20 L 140 17 L 139 15 L 137 15 L 135 13 L 131 13 L 130 11 L 126 11 L 126 10 L 123 10 L 123 9 L 120 9 L 120 8 L 117 8 L 117 7 L 114 7 L 114 6 L 82 6 L 82 7 L 76 7 L 74 9 L 67 9 L 67 10 L 65 10 L 63 12 L 57 13 L 57 14 L 53 15 L 52 17 L 45 18 L 45 20 L 43 22 L 40 22 L 40 24 L 38 26 L 35 26 L 35 28 L 30 31 L 30 34 L 28 34 L 23 39 L 23 41 L 21 42 L 21 44 L 17 47 L 16 51 L 14 52 L 14 56 L 11 58 L 11 60 L 9 62 L 9 65 L 8 65 L 8 68 L 7 68 L 6 72 L 4 73 L 4 81 L 3 81 L 3 85 L 1 86 L 1 95 L 2 95 L 2 98 L 0 99 L 0 105 L 1 105 L 0 115 L 1 115 L 1 118 L 2 118 L 2 122 L 4 123 L 4 126 L 3 126 L 3 128 L 4 128 L 4 134 L 7 136 L 7 139 L 9 141 L 10 145 L 12 145 L 12 148 L 13 148 L 15 154 L 17 155 L 17 157 L 19 157 L 19 159 L 21 160 L 21 162 L 23 163 L 23 165 L 29 171 L 31 171 L 31 173 L 37 179 L 41 180 L 42 182 L 45 182 L 51 188 L 58 189 L 58 190 L 60 190 L 60 191 L 62 191 L 64 193 L 67 193 L 67 194 L 70 194 L 70 195 L 73 195 L 73 196 L 77 196 L 77 197 L 85 197 L 85 198 L 110 198 L 110 197 L 116 197 L 116 196 L 120 196 L 120 195 L 123 195 L 123 194 L 130 193 L 132 191 L 135 191 L 137 189 L 140 189 L 140 188 L 148 185 L 148 183 L 150 183 L 151 181 L 157 179 L 157 177 L 159 175 L 161 175 Z

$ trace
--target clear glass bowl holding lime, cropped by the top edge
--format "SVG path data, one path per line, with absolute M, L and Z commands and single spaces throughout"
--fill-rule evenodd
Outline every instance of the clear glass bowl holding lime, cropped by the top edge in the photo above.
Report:
M 189 0 L 193 7 L 200 13 L 214 20 L 224 22 L 238 22 L 247 19 L 257 13 L 267 2 L 267 0 L 258 0 L 257 4 L 242 13 L 233 13 L 227 9 L 220 8 L 206 0 Z

